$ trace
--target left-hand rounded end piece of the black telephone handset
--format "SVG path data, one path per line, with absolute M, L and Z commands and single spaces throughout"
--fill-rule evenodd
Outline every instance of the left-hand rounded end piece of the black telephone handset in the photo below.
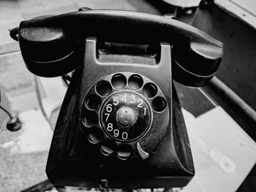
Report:
M 78 38 L 68 28 L 48 25 L 52 16 L 20 23 L 18 41 L 27 68 L 42 77 L 57 77 L 75 69 Z

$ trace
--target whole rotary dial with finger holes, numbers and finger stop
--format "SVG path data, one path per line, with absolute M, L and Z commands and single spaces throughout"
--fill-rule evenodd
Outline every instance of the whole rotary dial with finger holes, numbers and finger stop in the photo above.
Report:
M 157 85 L 140 74 L 110 74 L 86 93 L 81 110 L 85 137 L 102 155 L 148 158 L 165 136 L 167 101 Z

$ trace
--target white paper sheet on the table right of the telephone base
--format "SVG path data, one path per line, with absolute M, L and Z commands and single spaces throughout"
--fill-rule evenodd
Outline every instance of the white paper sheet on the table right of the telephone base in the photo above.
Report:
M 184 191 L 236 191 L 256 162 L 256 143 L 222 107 L 195 118 L 182 109 L 195 177 Z

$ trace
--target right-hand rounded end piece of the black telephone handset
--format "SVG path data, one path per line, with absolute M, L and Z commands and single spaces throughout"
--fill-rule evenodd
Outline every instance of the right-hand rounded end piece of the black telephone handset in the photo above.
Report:
M 222 60 L 222 43 L 207 37 L 206 41 L 173 45 L 173 79 L 182 85 L 201 87 L 214 77 Z

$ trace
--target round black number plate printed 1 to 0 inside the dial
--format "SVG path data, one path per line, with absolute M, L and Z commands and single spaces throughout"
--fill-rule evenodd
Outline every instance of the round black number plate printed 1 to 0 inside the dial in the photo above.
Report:
M 151 125 L 148 102 L 137 93 L 121 91 L 105 100 L 100 122 L 109 137 L 119 142 L 131 142 L 142 137 Z

